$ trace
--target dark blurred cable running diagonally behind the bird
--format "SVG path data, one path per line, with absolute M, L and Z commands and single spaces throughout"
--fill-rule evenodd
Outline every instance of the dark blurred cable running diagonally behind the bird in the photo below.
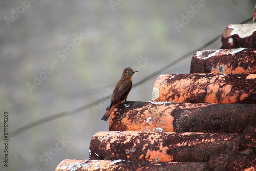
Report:
M 246 19 L 246 20 L 244 20 L 244 21 L 243 21 L 242 23 L 240 23 L 240 24 L 245 24 L 245 23 L 249 22 L 250 20 L 252 20 L 251 17 L 248 18 L 248 19 Z M 140 84 L 142 84 L 142 83 L 146 82 L 147 80 L 151 79 L 152 77 L 154 77 L 154 76 L 160 74 L 162 71 L 168 69 L 169 67 L 172 67 L 172 66 L 176 65 L 176 64 L 179 63 L 181 60 L 187 58 L 187 57 L 190 56 L 191 54 L 194 54 L 197 50 L 206 48 L 207 46 L 211 45 L 213 42 L 215 42 L 216 40 L 218 40 L 218 39 L 221 37 L 221 35 L 222 35 L 222 34 L 216 36 L 215 38 L 213 38 L 213 39 L 211 39 L 210 41 L 206 42 L 206 44 L 204 44 L 203 46 L 201 46 L 201 47 L 199 47 L 199 48 L 197 48 L 197 49 L 195 49 L 195 50 L 193 50 L 193 51 L 188 52 L 187 54 L 185 54 L 185 55 L 179 57 L 178 59 L 176 59 L 176 60 L 170 62 L 170 63 L 169 63 L 168 65 L 166 65 L 165 67 L 163 67 L 163 68 L 161 68 L 161 69 L 155 71 L 155 72 L 152 73 L 151 75 L 148 75 L 148 76 L 145 77 L 144 79 L 142 79 L 142 80 L 140 80 L 139 82 L 135 83 L 135 84 L 133 85 L 133 87 L 139 86 Z M 69 111 L 69 112 L 61 112 L 61 113 L 54 114 L 54 115 L 52 115 L 52 116 L 48 116 L 48 117 L 45 117 L 45 118 L 42 118 L 42 119 L 38 119 L 37 121 L 31 122 L 31 123 L 29 123 L 29 124 L 27 124 L 27 125 L 24 125 L 24 126 L 20 127 L 19 129 L 15 130 L 15 131 L 13 131 L 13 132 L 10 132 L 10 133 L 9 133 L 9 137 L 13 137 L 13 136 L 16 136 L 16 135 L 18 135 L 18 134 L 20 134 L 20 133 L 23 133 L 23 132 L 25 132 L 25 131 L 28 131 L 28 130 L 32 129 L 33 127 L 35 127 L 35 126 L 37 126 L 37 125 L 40 125 L 40 124 L 42 124 L 42 123 L 46 123 L 46 122 L 49 122 L 49 121 L 51 121 L 51 120 L 55 120 L 55 119 L 62 118 L 62 117 L 65 117 L 65 116 L 74 115 L 74 114 L 77 114 L 78 112 L 81 112 L 81 111 L 83 111 L 83 110 L 87 110 L 87 109 L 91 108 L 92 105 L 95 105 L 95 104 L 99 103 L 99 102 L 100 102 L 102 99 L 104 99 L 104 98 L 106 98 L 106 96 L 103 97 L 103 98 L 101 98 L 101 99 L 95 100 L 95 101 L 93 101 L 93 102 L 91 102 L 91 103 L 88 103 L 88 104 L 86 104 L 86 105 L 83 105 L 83 106 L 81 106 L 81 107 L 79 107 L 79 108 L 77 108 L 77 109 L 74 109 L 74 110 L 72 110 L 72 111 Z M 4 135 L 1 136 L 1 138 L 4 138 Z

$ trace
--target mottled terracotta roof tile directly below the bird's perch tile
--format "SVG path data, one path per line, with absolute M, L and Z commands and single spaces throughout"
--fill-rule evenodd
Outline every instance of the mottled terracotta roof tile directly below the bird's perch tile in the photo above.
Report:
M 239 153 L 241 134 L 98 132 L 90 160 L 207 162 L 213 154 Z

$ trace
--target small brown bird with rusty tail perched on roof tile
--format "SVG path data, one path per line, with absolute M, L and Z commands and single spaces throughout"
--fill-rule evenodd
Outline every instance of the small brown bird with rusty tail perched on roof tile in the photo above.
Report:
M 127 67 L 123 70 L 122 77 L 117 82 L 116 88 L 112 93 L 110 105 L 108 106 L 108 108 L 106 108 L 106 113 L 103 115 L 101 120 L 107 121 L 116 106 L 118 106 L 123 100 L 125 100 L 125 103 L 127 103 L 126 98 L 132 89 L 132 77 L 135 72 L 138 71 L 134 71 L 130 67 Z

